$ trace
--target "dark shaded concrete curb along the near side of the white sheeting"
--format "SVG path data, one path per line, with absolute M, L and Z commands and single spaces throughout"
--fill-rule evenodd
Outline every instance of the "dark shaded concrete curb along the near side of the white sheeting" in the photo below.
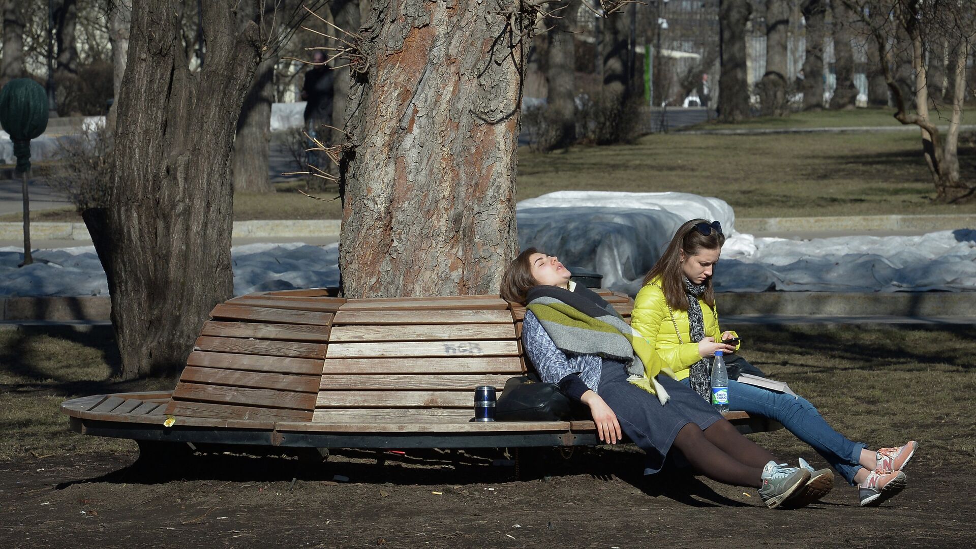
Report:
M 782 323 L 805 323 L 804 319 L 815 317 L 849 317 L 854 322 L 865 317 L 904 317 L 920 323 L 956 317 L 958 323 L 976 311 L 976 292 L 723 292 L 718 301 L 723 318 L 740 317 L 749 323 L 771 316 L 780 317 Z M 0 297 L 0 311 L 0 321 L 7 322 L 99 321 L 110 318 L 111 303 L 102 296 Z

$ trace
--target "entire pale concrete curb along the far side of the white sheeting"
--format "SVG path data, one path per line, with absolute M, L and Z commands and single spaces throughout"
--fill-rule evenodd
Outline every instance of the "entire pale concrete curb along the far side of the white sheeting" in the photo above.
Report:
M 735 223 L 739 232 L 953 231 L 976 228 L 976 214 L 739 218 Z M 338 236 L 341 226 L 342 220 L 338 219 L 235 221 L 231 236 Z M 84 223 L 31 223 L 30 237 L 38 241 L 92 241 Z M 22 239 L 22 223 L 0 223 L 0 240 Z

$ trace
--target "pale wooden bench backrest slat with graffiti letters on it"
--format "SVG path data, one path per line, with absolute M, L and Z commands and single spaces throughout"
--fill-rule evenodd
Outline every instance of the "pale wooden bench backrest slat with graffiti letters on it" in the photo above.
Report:
M 330 359 L 365 357 L 517 357 L 515 340 L 432 341 L 389 343 L 331 343 Z

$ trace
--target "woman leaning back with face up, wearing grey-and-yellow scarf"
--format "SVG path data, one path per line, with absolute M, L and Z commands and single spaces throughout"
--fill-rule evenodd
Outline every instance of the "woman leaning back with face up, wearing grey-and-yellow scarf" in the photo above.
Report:
M 547 383 L 590 408 L 600 441 L 623 434 L 656 473 L 675 446 L 710 479 L 758 488 L 769 508 L 822 497 L 833 475 L 779 464 L 708 402 L 663 368 L 654 349 L 589 288 L 569 279 L 554 256 L 529 248 L 502 277 L 502 297 L 526 304 L 522 345 Z

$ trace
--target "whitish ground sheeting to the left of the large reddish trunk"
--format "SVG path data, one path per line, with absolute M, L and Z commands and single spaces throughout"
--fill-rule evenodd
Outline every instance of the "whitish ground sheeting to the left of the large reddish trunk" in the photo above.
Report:
M 339 285 L 339 245 L 248 244 L 230 249 L 234 295 Z M 105 272 L 94 246 L 37 250 L 34 263 L 20 248 L 0 248 L 0 295 L 108 295 Z

